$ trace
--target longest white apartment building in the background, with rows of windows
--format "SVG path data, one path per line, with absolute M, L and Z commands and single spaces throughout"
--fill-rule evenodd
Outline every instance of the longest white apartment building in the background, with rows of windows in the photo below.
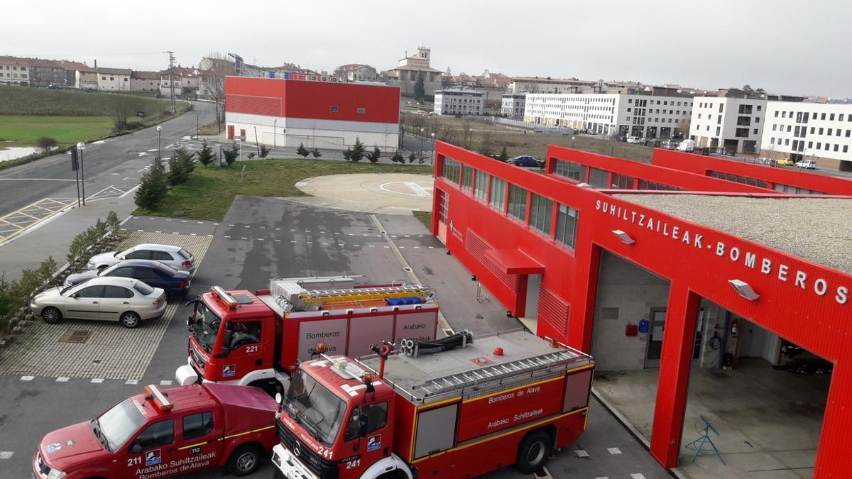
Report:
M 688 133 L 691 96 L 528 94 L 524 121 L 599 135 L 672 138 Z

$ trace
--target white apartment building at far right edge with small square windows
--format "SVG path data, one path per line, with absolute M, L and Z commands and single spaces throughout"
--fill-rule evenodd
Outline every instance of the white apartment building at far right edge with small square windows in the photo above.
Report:
M 761 155 L 852 171 L 852 104 L 769 101 Z

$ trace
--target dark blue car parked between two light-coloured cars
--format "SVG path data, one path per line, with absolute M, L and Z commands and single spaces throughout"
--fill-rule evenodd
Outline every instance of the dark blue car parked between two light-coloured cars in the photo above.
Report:
M 109 268 L 89 269 L 83 273 L 71 274 L 63 286 L 74 286 L 93 278 L 116 276 L 142 280 L 148 286 L 163 288 L 167 297 L 181 297 L 187 294 L 190 280 L 188 271 L 178 271 L 167 264 L 151 259 L 125 259 Z

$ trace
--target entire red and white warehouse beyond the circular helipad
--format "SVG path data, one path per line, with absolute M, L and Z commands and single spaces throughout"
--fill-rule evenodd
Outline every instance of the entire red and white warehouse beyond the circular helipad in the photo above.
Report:
M 400 89 L 383 84 L 284 78 L 225 78 L 227 137 L 269 147 L 394 151 L 400 138 Z

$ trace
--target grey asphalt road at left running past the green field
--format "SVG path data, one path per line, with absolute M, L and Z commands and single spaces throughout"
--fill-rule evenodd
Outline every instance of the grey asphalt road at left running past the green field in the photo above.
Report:
M 163 128 L 160 132 L 160 144 L 166 147 L 183 136 L 194 134 L 196 121 L 199 124 L 208 124 L 214 119 L 215 113 L 211 103 L 193 102 L 191 112 L 160 124 Z M 110 184 L 117 183 L 127 176 L 112 175 L 112 178 L 106 178 L 109 170 L 134 159 L 145 159 L 150 162 L 156 154 L 157 147 L 156 127 L 87 145 L 83 152 L 87 195 L 107 188 Z M 163 156 L 170 155 L 164 151 Z M 103 180 L 110 181 L 103 182 Z M 71 155 L 68 153 L 0 171 L 0 216 L 45 198 L 76 198 L 77 188 L 74 183 Z

